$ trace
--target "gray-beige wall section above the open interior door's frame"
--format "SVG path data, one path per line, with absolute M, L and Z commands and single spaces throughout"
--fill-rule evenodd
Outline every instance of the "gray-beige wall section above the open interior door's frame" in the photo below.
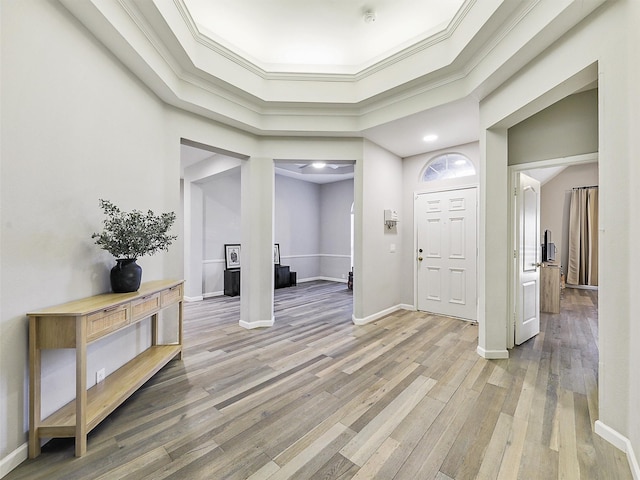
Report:
M 598 90 L 570 95 L 509 129 L 509 165 L 598 151 Z

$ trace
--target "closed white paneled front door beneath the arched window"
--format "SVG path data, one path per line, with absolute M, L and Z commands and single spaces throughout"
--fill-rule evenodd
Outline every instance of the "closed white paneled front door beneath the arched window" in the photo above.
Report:
M 476 188 L 419 194 L 418 310 L 477 319 Z

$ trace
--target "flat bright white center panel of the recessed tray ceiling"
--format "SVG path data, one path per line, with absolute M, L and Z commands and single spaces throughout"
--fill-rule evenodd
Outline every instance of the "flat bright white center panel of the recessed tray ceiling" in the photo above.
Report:
M 200 33 L 265 71 L 355 73 L 445 30 L 464 0 L 183 2 Z

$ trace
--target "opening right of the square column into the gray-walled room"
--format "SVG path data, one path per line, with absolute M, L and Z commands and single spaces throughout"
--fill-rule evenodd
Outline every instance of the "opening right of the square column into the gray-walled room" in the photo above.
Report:
M 313 281 L 351 296 L 354 175 L 353 161 L 274 160 L 273 241 L 281 265 L 296 275 L 296 285 L 274 292 L 278 298 L 302 301 Z

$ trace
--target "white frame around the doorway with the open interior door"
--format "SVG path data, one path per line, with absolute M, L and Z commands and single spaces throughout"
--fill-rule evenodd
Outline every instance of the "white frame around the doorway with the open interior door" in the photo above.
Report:
M 561 158 L 553 158 L 549 160 L 540 160 L 537 162 L 528 162 L 520 165 L 509 165 L 507 167 L 508 170 L 508 192 L 509 192 L 509 219 L 508 219 L 508 245 L 511 245 L 511 248 L 515 251 L 518 248 L 517 243 L 517 235 L 516 229 L 520 227 L 518 212 L 516 209 L 516 196 L 515 189 L 517 188 L 517 174 L 524 170 L 536 170 L 538 168 L 547 168 L 547 167 L 560 167 L 560 166 L 573 166 L 580 165 L 584 163 L 597 163 L 598 162 L 598 152 L 594 153 L 586 153 L 582 155 L 573 155 L 570 157 L 561 157 Z M 542 194 L 542 192 L 541 192 Z M 518 281 L 518 271 L 516 267 L 516 260 L 513 258 L 513 255 L 510 256 L 511 261 L 508 265 L 508 276 L 509 280 L 507 282 L 509 291 L 509 321 L 507 322 L 507 348 L 511 349 L 515 347 L 515 319 L 516 319 L 516 307 L 517 307 L 517 298 L 516 295 L 518 293 L 517 290 L 517 281 Z M 539 295 L 539 294 L 538 294 Z

